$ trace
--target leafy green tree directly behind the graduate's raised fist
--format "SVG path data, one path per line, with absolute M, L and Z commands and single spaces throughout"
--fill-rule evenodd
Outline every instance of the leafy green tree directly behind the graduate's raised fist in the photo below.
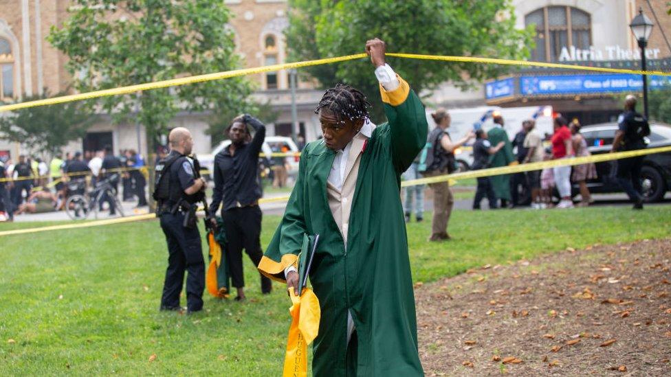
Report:
M 487 56 L 522 59 L 533 45 L 531 30 L 515 27 L 509 0 L 361 0 L 289 1 L 287 44 L 289 57 L 305 60 L 363 52 L 367 39 L 382 38 L 388 52 Z M 417 93 L 445 81 L 460 87 L 494 78 L 511 69 L 432 60 L 388 58 L 399 75 Z M 346 82 L 361 89 L 374 104 L 380 120 L 382 108 L 370 63 L 344 62 L 305 70 L 323 87 Z M 376 120 L 376 119 L 374 119 Z

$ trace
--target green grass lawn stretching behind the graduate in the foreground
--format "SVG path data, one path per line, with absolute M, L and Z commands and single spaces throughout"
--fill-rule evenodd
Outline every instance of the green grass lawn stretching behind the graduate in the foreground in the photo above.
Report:
M 429 282 L 566 247 L 668 237 L 670 215 L 668 206 L 455 211 L 449 242 L 426 242 L 428 221 L 408 225 L 412 273 Z M 277 223 L 265 217 L 262 244 Z M 155 220 L 5 236 L 0 245 L 1 376 L 281 374 L 289 299 L 279 284 L 262 296 L 248 258 L 247 302 L 206 293 L 206 311 L 186 317 L 157 310 L 167 253 Z

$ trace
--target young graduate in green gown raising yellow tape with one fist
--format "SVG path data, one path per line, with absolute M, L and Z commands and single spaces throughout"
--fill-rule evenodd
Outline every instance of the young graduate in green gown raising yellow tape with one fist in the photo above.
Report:
M 426 144 L 426 114 L 386 64 L 384 42 L 366 42 L 366 52 L 388 122 L 369 121 L 360 91 L 326 91 L 316 108 L 324 138 L 303 150 L 259 270 L 295 289 L 303 235 L 319 234 L 309 273 L 321 309 L 314 375 L 422 376 L 399 177 Z

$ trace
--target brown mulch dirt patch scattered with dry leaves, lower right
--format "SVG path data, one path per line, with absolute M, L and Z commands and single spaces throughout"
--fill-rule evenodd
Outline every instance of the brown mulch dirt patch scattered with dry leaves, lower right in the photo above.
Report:
M 446 246 L 447 247 L 447 246 Z M 418 283 L 427 376 L 671 376 L 671 239 Z

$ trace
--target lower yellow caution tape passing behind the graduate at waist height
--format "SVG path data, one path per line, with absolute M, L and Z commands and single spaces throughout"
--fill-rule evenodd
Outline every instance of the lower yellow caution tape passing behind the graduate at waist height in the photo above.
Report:
M 500 174 L 514 174 L 519 172 L 531 172 L 533 170 L 542 170 L 546 168 L 554 168 L 556 166 L 572 166 L 572 165 L 583 165 L 585 163 L 597 163 L 604 161 L 614 161 L 617 159 L 627 159 L 630 157 L 645 156 L 645 155 L 654 155 L 655 153 L 671 152 L 671 146 L 659 147 L 659 148 L 647 148 L 641 150 L 628 150 L 626 152 L 614 152 L 614 153 L 604 153 L 602 155 L 592 155 L 586 157 L 571 157 L 566 159 L 557 159 L 550 161 L 540 161 L 533 163 L 524 163 L 520 165 L 511 165 L 504 166 L 501 168 L 489 168 L 482 170 L 472 170 L 469 172 L 459 172 L 453 174 L 445 174 L 440 176 L 432 176 L 430 178 L 421 178 L 421 179 L 412 179 L 410 181 L 402 181 L 401 187 L 409 187 L 415 185 L 426 185 L 430 183 L 441 183 L 448 182 L 452 184 L 454 181 L 459 181 L 461 179 L 470 179 L 470 178 L 481 178 L 485 176 L 495 176 Z M 264 203 L 278 203 L 285 202 L 289 200 L 289 196 L 279 196 L 277 198 L 261 198 L 259 199 L 259 204 Z M 199 210 L 202 210 L 203 207 L 199 207 Z M 23 233 L 36 233 L 41 231 L 52 231 L 52 230 L 62 230 L 62 229 L 76 229 L 80 227 L 98 227 L 100 225 L 111 225 L 119 224 L 123 222 L 131 221 L 140 221 L 148 220 L 155 218 L 155 214 L 144 214 L 139 216 L 130 216 L 125 218 L 113 218 L 109 220 L 96 220 L 91 222 L 78 222 L 74 224 L 67 225 L 54 225 L 51 227 L 37 227 L 29 229 L 15 229 L 10 231 L 0 231 L 0 236 L 10 236 L 13 234 L 23 234 Z

